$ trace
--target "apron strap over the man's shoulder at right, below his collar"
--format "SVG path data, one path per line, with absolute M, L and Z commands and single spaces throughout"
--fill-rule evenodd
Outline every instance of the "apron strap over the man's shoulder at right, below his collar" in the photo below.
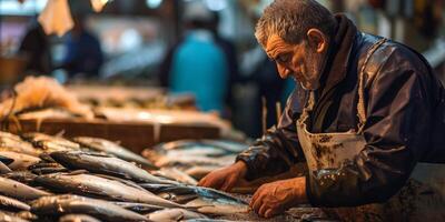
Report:
M 368 64 L 370 57 L 374 54 L 377 49 L 384 44 L 387 41 L 387 39 L 380 39 L 376 43 L 374 43 L 368 53 L 366 54 L 365 61 L 363 62 L 363 65 L 360 68 L 360 72 L 358 75 L 358 104 L 357 104 L 357 117 L 358 117 L 358 132 L 363 132 L 363 128 L 366 123 L 366 105 L 365 105 L 365 69 L 366 65 Z M 375 78 L 375 73 L 369 73 L 372 75 L 368 77 L 368 81 L 373 80 Z

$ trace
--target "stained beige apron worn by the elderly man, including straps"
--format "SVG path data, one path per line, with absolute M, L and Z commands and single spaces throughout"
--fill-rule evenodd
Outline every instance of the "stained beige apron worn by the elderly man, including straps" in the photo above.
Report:
M 309 173 L 338 169 L 365 148 L 363 128 L 366 123 L 364 99 L 365 68 L 372 54 L 385 43 L 376 42 L 368 51 L 358 77 L 357 129 L 347 132 L 310 133 L 307 130 L 314 108 L 314 93 L 297 120 L 298 140 L 305 154 Z M 375 79 L 368 73 L 367 82 Z M 373 203 L 354 208 L 324 209 L 342 221 L 445 221 L 445 167 L 443 164 L 417 163 L 411 178 L 400 191 L 385 203 Z

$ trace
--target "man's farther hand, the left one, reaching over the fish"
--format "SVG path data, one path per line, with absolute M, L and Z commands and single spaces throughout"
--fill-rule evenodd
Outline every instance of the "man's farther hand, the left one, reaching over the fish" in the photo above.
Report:
M 238 161 L 233 165 L 216 170 L 202 178 L 198 185 L 230 191 L 234 185 L 246 175 L 247 165 Z

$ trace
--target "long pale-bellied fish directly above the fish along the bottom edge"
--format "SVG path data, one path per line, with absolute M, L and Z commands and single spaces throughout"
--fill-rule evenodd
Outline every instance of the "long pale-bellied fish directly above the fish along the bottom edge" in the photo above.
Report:
M 53 173 L 36 178 L 39 184 L 55 190 L 72 192 L 81 195 L 95 195 L 116 201 L 138 202 L 166 208 L 184 208 L 175 202 L 161 199 L 154 193 L 90 174 Z

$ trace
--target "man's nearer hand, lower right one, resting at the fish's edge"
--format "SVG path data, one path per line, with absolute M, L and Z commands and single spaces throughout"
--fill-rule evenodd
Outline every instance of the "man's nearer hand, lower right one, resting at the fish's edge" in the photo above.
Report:
M 258 215 L 271 218 L 305 202 L 307 202 L 306 178 L 295 178 L 259 186 L 249 205 Z

